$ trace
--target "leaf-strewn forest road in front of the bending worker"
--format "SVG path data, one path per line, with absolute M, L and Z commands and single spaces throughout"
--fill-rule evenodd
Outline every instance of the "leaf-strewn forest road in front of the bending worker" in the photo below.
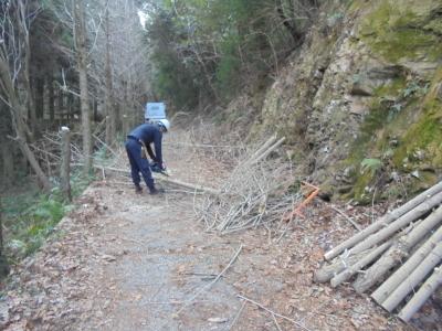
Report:
M 352 232 L 335 216 L 317 202 L 280 243 L 264 228 L 219 236 L 196 220 L 192 194 L 136 195 L 128 179 L 106 178 L 14 268 L 6 329 L 411 330 L 349 287 L 313 284 L 320 245 Z

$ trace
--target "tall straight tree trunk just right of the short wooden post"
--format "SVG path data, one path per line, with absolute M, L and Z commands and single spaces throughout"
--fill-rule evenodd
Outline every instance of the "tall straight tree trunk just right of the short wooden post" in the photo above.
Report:
M 74 7 L 74 35 L 75 51 L 80 77 L 80 103 L 82 111 L 83 129 L 83 153 L 84 172 L 92 171 L 92 134 L 91 134 L 91 108 L 87 90 L 87 50 L 86 50 L 86 24 L 83 0 L 73 0 Z

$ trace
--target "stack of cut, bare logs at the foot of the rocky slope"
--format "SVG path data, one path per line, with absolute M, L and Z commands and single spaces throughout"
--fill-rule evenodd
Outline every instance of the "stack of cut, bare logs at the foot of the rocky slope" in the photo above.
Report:
M 442 282 L 442 182 L 325 254 L 318 282 L 354 278 L 359 293 L 408 322 Z M 403 306 L 404 301 L 407 303 Z

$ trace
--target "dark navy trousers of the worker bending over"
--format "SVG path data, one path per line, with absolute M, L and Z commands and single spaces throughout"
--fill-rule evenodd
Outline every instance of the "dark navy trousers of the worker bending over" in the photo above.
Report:
M 141 158 L 141 143 L 136 139 L 128 138 L 125 147 L 130 162 L 130 175 L 134 184 L 139 186 L 139 182 L 141 181 L 139 173 L 141 172 L 146 185 L 149 190 L 152 190 L 155 188 L 154 179 L 151 177 L 149 162 Z

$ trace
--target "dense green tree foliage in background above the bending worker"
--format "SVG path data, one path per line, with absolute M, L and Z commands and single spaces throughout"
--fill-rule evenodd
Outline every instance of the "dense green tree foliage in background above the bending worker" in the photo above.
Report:
M 303 43 L 317 2 L 146 2 L 155 94 L 180 107 L 229 100 L 277 73 L 280 63 Z

